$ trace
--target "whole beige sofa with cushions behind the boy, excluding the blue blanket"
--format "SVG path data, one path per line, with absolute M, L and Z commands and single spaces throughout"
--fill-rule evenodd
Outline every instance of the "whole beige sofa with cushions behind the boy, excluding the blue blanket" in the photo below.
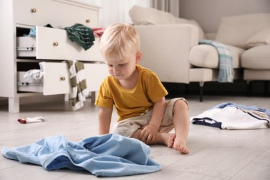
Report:
M 270 80 L 270 14 L 223 17 L 217 33 L 205 34 L 194 20 L 181 19 L 153 8 L 133 6 L 129 15 L 140 36 L 141 64 L 162 82 L 218 81 L 219 55 L 212 39 L 225 44 L 233 57 L 234 80 Z

